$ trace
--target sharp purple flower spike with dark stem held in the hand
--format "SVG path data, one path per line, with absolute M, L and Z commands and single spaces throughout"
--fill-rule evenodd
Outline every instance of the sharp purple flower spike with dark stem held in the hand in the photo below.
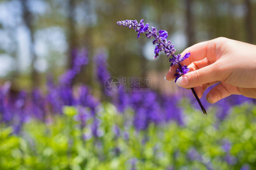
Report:
M 159 56 L 160 51 L 164 51 L 164 53 L 167 55 L 167 57 L 172 57 L 169 58 L 169 62 L 171 62 L 171 67 L 172 66 L 178 66 L 178 69 L 176 70 L 176 76 L 175 82 L 179 77 L 182 75 L 186 74 L 189 72 L 188 66 L 184 65 L 182 66 L 180 63 L 187 59 L 190 56 L 190 53 L 186 53 L 183 57 L 181 57 L 180 54 L 175 55 L 174 53 L 176 52 L 176 49 L 174 48 L 174 45 L 171 44 L 171 41 L 167 41 L 168 37 L 168 32 L 165 30 L 159 30 L 157 32 L 157 29 L 155 27 L 151 27 L 151 30 L 149 30 L 149 24 L 146 23 L 144 24 L 144 20 L 142 19 L 140 23 L 137 22 L 137 20 L 123 20 L 123 21 L 118 21 L 116 24 L 119 26 L 124 26 L 124 27 L 129 27 L 133 28 L 137 34 L 137 38 L 140 37 L 140 34 L 145 33 L 146 37 L 148 39 L 151 39 L 154 37 L 153 44 L 156 44 L 155 46 L 155 56 L 153 59 L 157 58 Z M 194 96 L 196 97 L 197 102 L 199 103 L 202 111 L 204 114 L 207 115 L 205 108 L 203 107 L 201 101 L 199 100 L 198 96 L 196 95 L 196 92 L 193 88 L 191 88 Z

